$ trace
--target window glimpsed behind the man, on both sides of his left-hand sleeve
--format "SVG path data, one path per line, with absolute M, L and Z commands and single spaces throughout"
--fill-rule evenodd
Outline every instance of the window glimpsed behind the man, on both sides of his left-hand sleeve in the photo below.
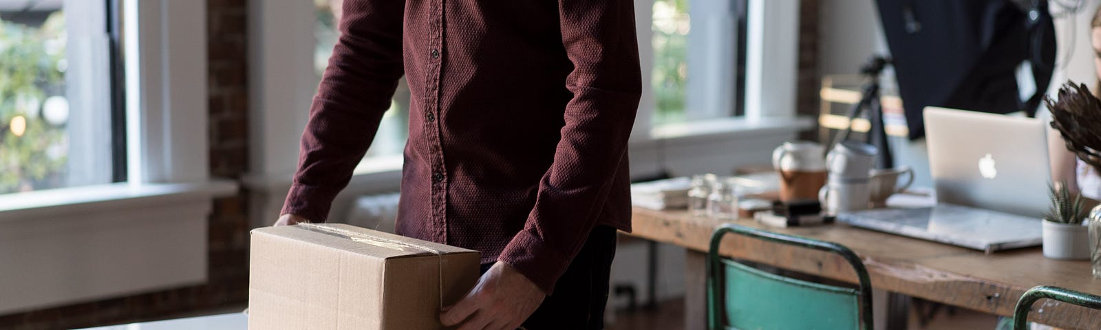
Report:
M 317 8 L 317 37 L 314 51 L 314 69 L 320 77 L 325 73 L 325 67 L 329 64 L 329 56 L 333 55 L 333 46 L 337 43 L 339 31 L 337 23 L 340 21 L 340 6 L 344 0 L 314 0 Z M 316 86 L 315 86 L 316 87 Z M 382 116 L 379 124 L 379 132 L 374 134 L 371 148 L 367 151 L 364 157 L 401 155 L 408 139 L 408 109 L 410 89 L 405 84 L 405 78 L 397 84 L 394 92 L 394 100 L 390 103 L 390 109 Z

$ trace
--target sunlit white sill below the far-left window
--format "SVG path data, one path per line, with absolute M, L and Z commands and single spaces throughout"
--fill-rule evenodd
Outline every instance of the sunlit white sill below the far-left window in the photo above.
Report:
M 57 216 L 138 209 L 178 201 L 194 201 L 237 193 L 237 183 L 211 180 L 189 184 L 128 183 L 0 195 L 0 219 L 22 220 Z M 0 220 L 0 222 L 3 222 Z

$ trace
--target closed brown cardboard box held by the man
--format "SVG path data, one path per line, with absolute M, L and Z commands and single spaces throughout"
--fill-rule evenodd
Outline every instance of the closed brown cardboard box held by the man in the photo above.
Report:
M 250 329 L 443 329 L 479 276 L 477 251 L 348 224 L 252 231 Z

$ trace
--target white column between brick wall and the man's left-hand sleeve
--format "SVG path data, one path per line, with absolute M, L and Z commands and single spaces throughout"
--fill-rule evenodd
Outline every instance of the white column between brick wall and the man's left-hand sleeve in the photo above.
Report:
M 313 1 L 249 1 L 249 208 L 270 226 L 298 163 L 298 140 L 319 78 Z

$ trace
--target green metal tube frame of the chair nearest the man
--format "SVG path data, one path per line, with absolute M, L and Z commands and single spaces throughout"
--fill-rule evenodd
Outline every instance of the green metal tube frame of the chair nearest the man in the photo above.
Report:
M 726 223 L 716 228 L 715 232 L 711 234 L 710 249 L 707 252 L 707 310 L 708 329 L 719 330 L 722 329 L 722 314 L 717 312 L 720 310 L 720 299 L 718 297 L 722 296 L 722 287 L 719 285 L 718 278 L 722 276 L 722 255 L 719 254 L 719 245 L 722 242 L 722 238 L 728 234 L 740 234 L 743 237 L 749 237 L 752 239 L 763 240 L 767 242 L 781 243 L 795 245 L 811 250 L 830 252 L 838 254 L 843 257 L 852 266 L 853 271 L 857 272 L 857 278 L 859 279 L 859 292 L 860 292 L 860 321 L 863 324 L 862 328 L 865 330 L 871 330 L 872 322 L 872 282 L 868 276 L 868 268 L 864 267 L 864 263 L 860 261 L 852 250 L 846 248 L 844 245 L 811 240 L 807 238 L 800 238 L 795 235 L 787 235 L 781 233 L 774 233 L 768 231 L 763 231 L 759 229 L 753 229 L 744 226 L 738 226 L 733 223 Z

